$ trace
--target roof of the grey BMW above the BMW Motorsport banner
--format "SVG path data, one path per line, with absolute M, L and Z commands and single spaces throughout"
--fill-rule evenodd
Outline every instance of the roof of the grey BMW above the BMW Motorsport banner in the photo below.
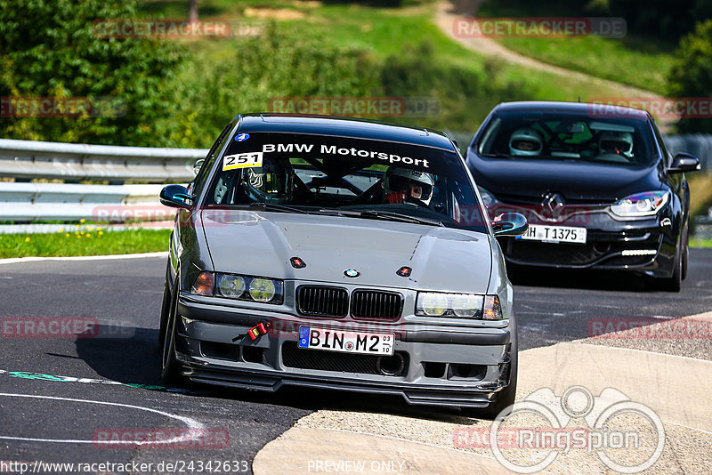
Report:
M 389 124 L 352 117 L 298 114 L 242 114 L 239 117 L 240 133 L 310 133 L 455 149 L 445 133 L 411 125 Z

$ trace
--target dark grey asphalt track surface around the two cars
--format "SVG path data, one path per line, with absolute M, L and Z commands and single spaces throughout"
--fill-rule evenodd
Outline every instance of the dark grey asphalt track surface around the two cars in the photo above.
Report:
M 161 388 L 157 328 L 165 265 L 158 257 L 0 265 L 0 317 L 101 322 L 95 338 L 0 339 L 0 462 L 133 461 L 154 463 L 152 472 L 157 472 L 155 464 L 161 462 L 220 460 L 249 469 L 258 450 L 320 408 L 386 404 L 404 414 L 433 415 L 433 409 L 402 407 L 399 399 L 336 391 L 268 395 Z M 712 250 L 692 250 L 690 275 L 679 294 L 647 291 L 641 279 L 625 274 L 538 270 L 513 278 L 525 350 L 586 338 L 592 318 L 680 318 L 709 310 Z M 92 443 L 101 431 L 190 424 L 228 433 L 230 447 L 135 449 Z

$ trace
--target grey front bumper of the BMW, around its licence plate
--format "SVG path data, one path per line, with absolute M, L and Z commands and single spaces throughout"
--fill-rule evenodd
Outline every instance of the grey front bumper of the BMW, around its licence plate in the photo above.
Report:
M 216 300 L 216 299 L 210 299 Z M 224 300 L 224 299 L 220 299 Z M 182 292 L 176 358 L 194 382 L 275 391 L 286 385 L 400 395 L 409 404 L 487 407 L 510 383 L 508 320 L 481 327 L 304 318 L 279 306 L 257 310 L 214 304 Z M 412 317 L 412 316 L 411 316 Z M 259 322 L 270 331 L 245 338 Z M 394 359 L 297 348 L 299 326 L 395 334 Z M 400 360 L 399 358 L 402 358 Z M 401 361 L 401 366 L 399 362 Z M 388 374 L 381 370 L 387 366 Z M 397 371 L 396 371 L 397 369 Z

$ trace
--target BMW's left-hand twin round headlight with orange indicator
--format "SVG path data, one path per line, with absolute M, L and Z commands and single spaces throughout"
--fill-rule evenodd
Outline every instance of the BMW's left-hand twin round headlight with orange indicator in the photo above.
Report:
M 201 272 L 191 293 L 279 305 L 282 303 L 283 289 L 283 282 L 273 278 Z

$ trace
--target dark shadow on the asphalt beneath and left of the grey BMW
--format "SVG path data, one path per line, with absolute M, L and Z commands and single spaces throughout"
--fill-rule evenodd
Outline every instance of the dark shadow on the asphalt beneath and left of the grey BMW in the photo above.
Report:
M 271 393 L 195 383 L 188 383 L 181 388 L 166 388 L 160 376 L 158 330 L 154 329 L 101 325 L 97 337 L 80 337 L 75 344 L 78 358 L 83 359 L 102 378 L 135 385 L 144 390 L 182 393 L 184 397 L 231 399 L 307 411 L 331 409 L 440 421 L 451 421 L 459 415 L 456 408 L 409 406 L 399 396 L 339 390 L 287 386 Z

